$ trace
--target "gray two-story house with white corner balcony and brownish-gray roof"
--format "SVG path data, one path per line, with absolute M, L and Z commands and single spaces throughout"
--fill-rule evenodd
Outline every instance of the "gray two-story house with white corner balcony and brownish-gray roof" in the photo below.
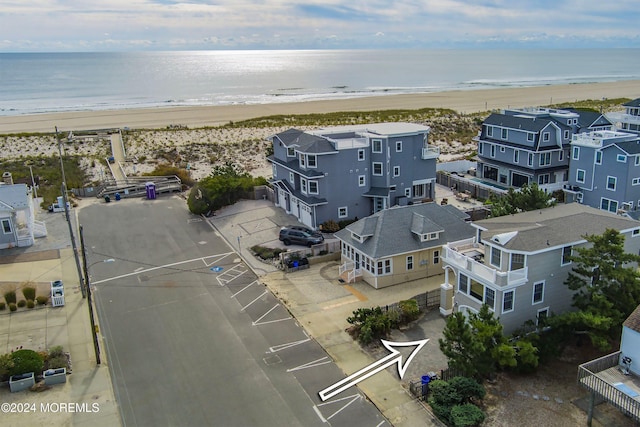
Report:
M 487 304 L 509 334 L 524 322 L 571 310 L 564 284 L 573 249 L 587 234 L 618 230 L 625 251 L 640 250 L 640 223 L 579 203 L 489 218 L 472 224 L 474 238 L 443 247 L 442 314 L 477 312 Z M 453 297 L 453 298 L 452 298 Z

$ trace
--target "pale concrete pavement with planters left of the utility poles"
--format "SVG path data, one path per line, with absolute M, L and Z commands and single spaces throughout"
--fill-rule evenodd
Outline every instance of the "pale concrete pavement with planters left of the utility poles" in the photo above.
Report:
M 68 226 L 62 216 L 54 215 L 44 217 L 49 236 L 38 239 L 36 245 L 27 249 L 0 251 L 0 256 L 18 254 L 15 262 L 0 264 L 0 280 L 8 286 L 33 282 L 38 287 L 38 295 L 46 295 L 50 281 L 62 280 L 65 305 L 21 308 L 13 313 L 8 309 L 1 311 L 0 353 L 9 353 L 20 347 L 45 351 L 60 345 L 70 354 L 72 373 L 67 375 L 66 383 L 53 385 L 40 393 L 10 393 L 8 386 L 0 387 L 3 403 L 20 404 L 29 409 L 28 412 L 3 413 L 2 424 L 119 426 L 121 418 L 102 342 L 102 364 L 96 365 L 87 300 L 80 292 Z M 58 251 L 59 256 L 20 262 L 20 254 L 29 253 L 33 256 L 38 250 Z M 24 259 L 31 257 L 23 256 Z M 17 294 L 20 299 L 20 291 Z

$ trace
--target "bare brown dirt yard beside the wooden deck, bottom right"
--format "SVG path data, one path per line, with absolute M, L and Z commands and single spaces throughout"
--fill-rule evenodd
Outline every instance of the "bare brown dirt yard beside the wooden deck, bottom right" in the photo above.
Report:
M 586 426 L 588 393 L 578 386 L 578 366 L 602 355 L 590 348 L 571 347 L 560 360 L 532 375 L 502 373 L 486 384 L 484 425 L 497 427 Z M 581 409 L 582 408 L 582 409 Z M 597 405 L 594 427 L 633 426 L 633 422 L 606 403 Z

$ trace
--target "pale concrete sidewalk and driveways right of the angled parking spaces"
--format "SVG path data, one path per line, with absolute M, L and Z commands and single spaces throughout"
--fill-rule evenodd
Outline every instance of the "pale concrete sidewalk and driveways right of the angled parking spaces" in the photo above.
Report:
M 216 212 L 209 221 L 231 246 L 240 251 L 260 280 L 287 305 L 309 336 L 323 346 L 345 374 L 356 372 L 377 360 L 363 351 L 345 331 L 349 326 L 346 319 L 354 310 L 412 298 L 439 288 L 443 280 L 438 276 L 376 290 L 364 282 L 341 284 L 337 261 L 312 265 L 307 270 L 293 273 L 284 273 L 273 265 L 264 264 L 251 254 L 249 248 L 257 244 L 281 246 L 278 241 L 280 227 L 296 223 L 295 217 L 275 208 L 269 201 L 241 201 Z M 429 331 L 425 335 L 441 334 L 444 319 L 439 315 L 429 319 Z M 431 339 L 427 344 L 429 348 L 425 347 L 412 361 L 413 376 L 420 370 L 426 374 L 446 367 L 446 359 L 437 349 L 440 336 L 425 336 Z M 412 378 L 409 375 L 410 372 L 405 380 Z M 395 365 L 358 386 L 394 426 L 441 425 L 403 387 Z

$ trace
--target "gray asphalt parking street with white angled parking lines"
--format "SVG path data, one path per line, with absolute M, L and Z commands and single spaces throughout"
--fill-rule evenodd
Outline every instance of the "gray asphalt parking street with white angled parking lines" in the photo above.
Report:
M 388 425 L 179 197 L 79 213 L 123 424 Z

